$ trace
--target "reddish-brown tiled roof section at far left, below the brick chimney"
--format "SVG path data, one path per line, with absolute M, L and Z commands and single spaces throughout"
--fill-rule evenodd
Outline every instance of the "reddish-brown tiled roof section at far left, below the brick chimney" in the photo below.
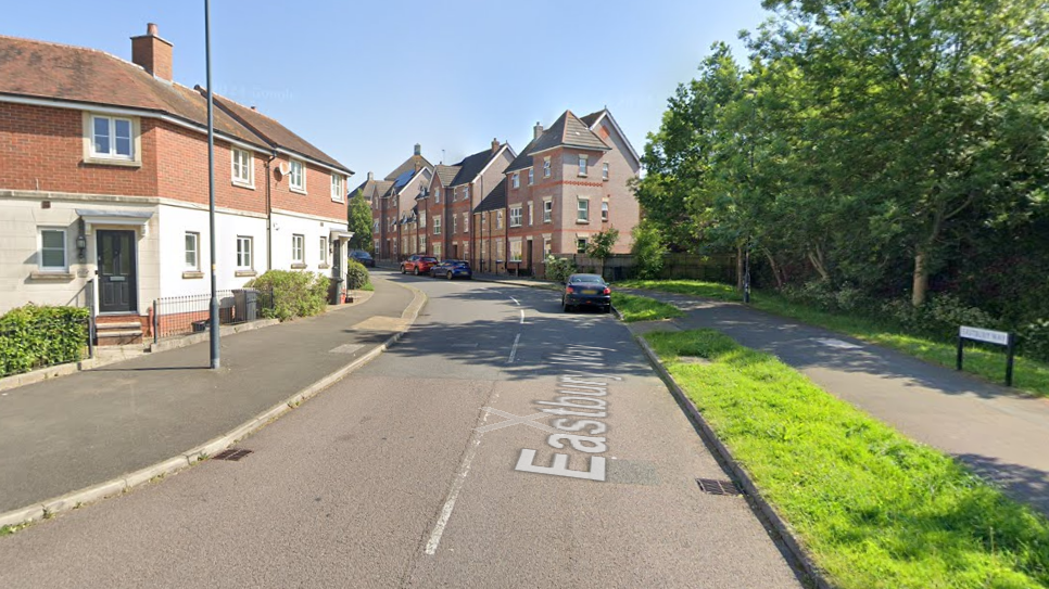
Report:
M 0 36 L 0 94 L 139 108 L 207 125 L 207 102 L 185 86 L 161 81 L 102 51 L 15 37 Z M 268 148 L 217 108 L 215 130 Z

